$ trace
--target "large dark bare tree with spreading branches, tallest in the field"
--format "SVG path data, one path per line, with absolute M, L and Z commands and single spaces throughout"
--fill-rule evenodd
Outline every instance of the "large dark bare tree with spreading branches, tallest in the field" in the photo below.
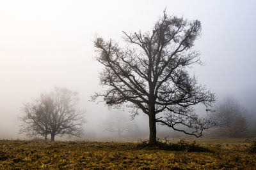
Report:
M 112 40 L 96 38 L 96 59 L 104 66 L 100 83 L 108 89 L 95 93 L 92 101 L 103 97 L 109 106 L 129 103 L 132 117 L 139 111 L 147 114 L 149 145 L 156 145 L 157 122 L 175 131 L 202 136 L 204 129 L 214 123 L 199 118 L 193 106 L 202 103 L 209 110 L 215 96 L 187 70 L 192 64 L 201 64 L 199 52 L 190 50 L 200 31 L 200 21 L 169 17 L 164 11 L 152 32 L 124 32 L 124 48 Z M 184 126 L 193 131 L 185 131 Z

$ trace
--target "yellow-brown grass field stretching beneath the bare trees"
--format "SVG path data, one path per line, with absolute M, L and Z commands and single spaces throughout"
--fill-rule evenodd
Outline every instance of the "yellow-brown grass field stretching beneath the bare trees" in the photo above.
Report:
M 248 143 L 200 141 L 210 152 L 140 148 L 138 143 L 0 141 L 0 169 L 256 169 Z

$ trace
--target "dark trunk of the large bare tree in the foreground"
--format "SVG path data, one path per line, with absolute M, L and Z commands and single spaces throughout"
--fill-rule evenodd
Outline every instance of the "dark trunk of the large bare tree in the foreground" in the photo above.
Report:
M 156 115 L 149 113 L 149 146 L 156 146 Z

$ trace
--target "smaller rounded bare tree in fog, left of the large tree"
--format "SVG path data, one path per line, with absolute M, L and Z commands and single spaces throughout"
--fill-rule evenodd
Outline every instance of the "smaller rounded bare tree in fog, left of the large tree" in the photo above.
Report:
M 20 132 L 40 134 L 45 140 L 51 134 L 51 141 L 58 134 L 80 136 L 84 111 L 77 109 L 78 101 L 77 92 L 68 89 L 55 88 L 54 92 L 41 94 L 39 99 L 24 104 L 26 115 L 20 118 L 24 123 Z

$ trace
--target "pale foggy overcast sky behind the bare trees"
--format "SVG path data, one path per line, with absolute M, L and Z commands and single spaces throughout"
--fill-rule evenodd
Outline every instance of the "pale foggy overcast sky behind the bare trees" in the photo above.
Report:
M 202 22 L 195 50 L 205 66 L 193 69 L 200 83 L 218 98 L 232 95 L 253 104 L 255 2 L 0 1 L 0 139 L 21 138 L 17 117 L 22 103 L 55 86 L 79 92 L 85 131 L 93 131 L 109 112 L 104 104 L 88 101 L 102 89 L 93 37 L 97 33 L 121 42 L 122 31 L 150 31 L 164 8 L 170 15 Z

